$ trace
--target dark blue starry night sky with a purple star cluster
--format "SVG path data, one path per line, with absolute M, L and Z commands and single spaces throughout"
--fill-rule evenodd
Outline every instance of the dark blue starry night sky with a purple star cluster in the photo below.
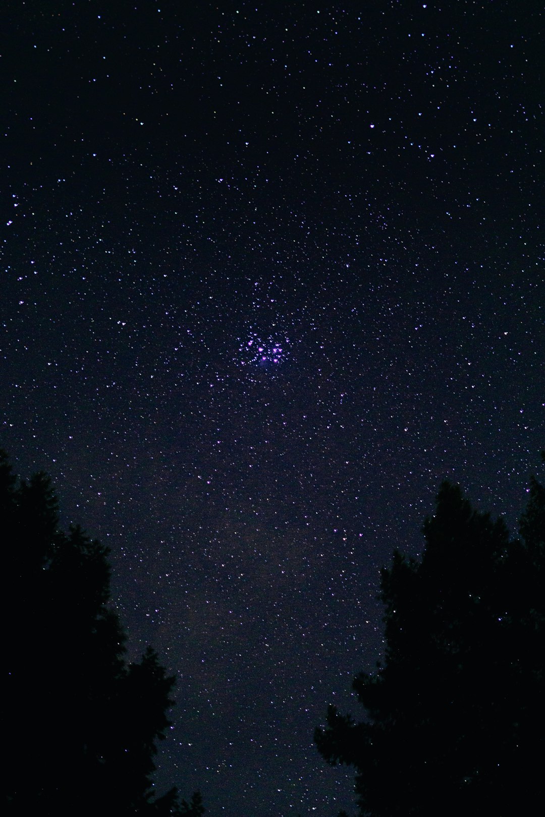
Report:
M 2 5 L 0 445 L 176 672 L 158 788 L 354 811 L 380 569 L 544 441 L 541 2 Z M 137 717 L 137 714 L 136 714 Z

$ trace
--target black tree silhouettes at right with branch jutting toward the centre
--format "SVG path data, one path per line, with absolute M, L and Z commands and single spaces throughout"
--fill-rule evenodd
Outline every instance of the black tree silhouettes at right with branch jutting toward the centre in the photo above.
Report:
M 503 520 L 444 482 L 422 560 L 382 571 L 386 650 L 329 708 L 319 752 L 355 767 L 362 815 L 515 815 L 543 801 L 545 489 L 534 478 L 509 541 Z

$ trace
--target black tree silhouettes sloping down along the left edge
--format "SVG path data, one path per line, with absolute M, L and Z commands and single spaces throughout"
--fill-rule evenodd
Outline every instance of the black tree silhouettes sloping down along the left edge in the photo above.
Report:
M 175 788 L 154 797 L 175 679 L 151 648 L 127 663 L 108 548 L 78 527 L 60 531 L 51 480 L 17 480 L 2 451 L 0 514 L 8 814 L 199 817 L 198 792 L 190 803 Z

